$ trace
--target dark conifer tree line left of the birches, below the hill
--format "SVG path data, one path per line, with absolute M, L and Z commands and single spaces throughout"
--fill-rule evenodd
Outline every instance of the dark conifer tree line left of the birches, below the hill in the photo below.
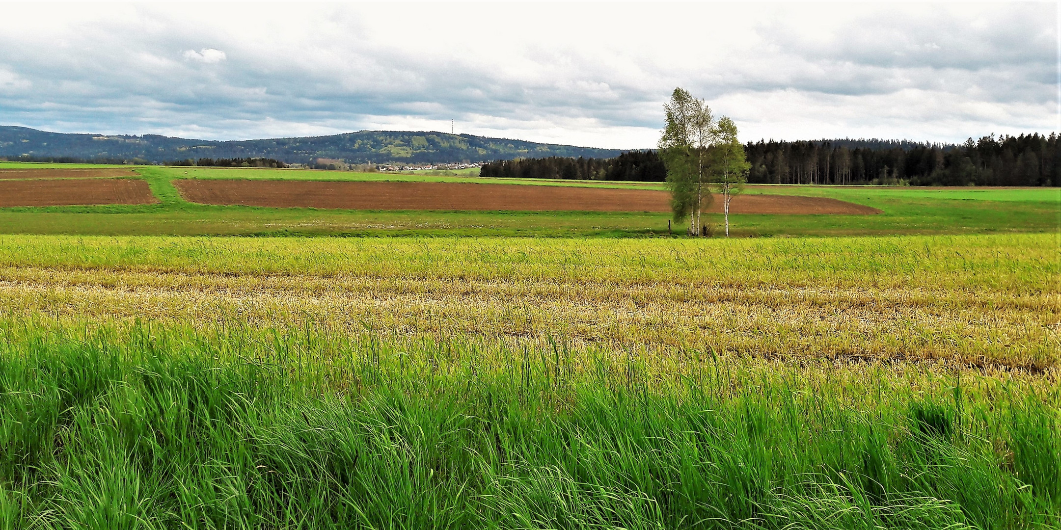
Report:
M 517 158 L 483 164 L 481 177 L 662 182 L 666 166 L 654 151 L 630 151 L 614 158 Z

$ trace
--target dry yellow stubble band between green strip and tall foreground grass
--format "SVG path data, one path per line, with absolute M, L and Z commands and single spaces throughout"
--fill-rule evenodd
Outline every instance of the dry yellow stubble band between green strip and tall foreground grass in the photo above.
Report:
M 681 285 L 563 279 L 0 269 L 0 311 L 197 325 L 325 324 L 576 348 L 680 348 L 777 359 L 939 361 L 1041 372 L 1059 360 L 1058 297 L 921 285 Z

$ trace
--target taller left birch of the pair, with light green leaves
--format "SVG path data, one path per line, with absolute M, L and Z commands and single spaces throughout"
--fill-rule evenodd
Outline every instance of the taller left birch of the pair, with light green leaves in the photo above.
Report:
M 689 234 L 700 235 L 700 214 L 712 200 L 708 148 L 714 138 L 714 119 L 703 100 L 688 90 L 674 89 L 663 105 L 666 127 L 660 137 L 660 157 L 666 165 L 674 219 L 690 218 Z

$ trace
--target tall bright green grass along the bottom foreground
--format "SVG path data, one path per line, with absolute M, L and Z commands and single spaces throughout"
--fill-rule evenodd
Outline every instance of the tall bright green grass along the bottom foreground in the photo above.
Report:
M 2 528 L 1061 525 L 1040 378 L 309 325 L 0 335 Z

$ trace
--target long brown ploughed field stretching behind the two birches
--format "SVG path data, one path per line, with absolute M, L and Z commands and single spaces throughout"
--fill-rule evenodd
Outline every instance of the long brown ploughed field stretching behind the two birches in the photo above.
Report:
M 571 210 L 669 212 L 669 194 L 656 190 L 447 182 L 328 182 L 319 180 L 173 181 L 185 199 L 206 205 L 348 210 Z M 715 201 L 711 211 L 721 211 Z M 743 195 L 731 213 L 873 214 L 880 210 L 831 198 Z

